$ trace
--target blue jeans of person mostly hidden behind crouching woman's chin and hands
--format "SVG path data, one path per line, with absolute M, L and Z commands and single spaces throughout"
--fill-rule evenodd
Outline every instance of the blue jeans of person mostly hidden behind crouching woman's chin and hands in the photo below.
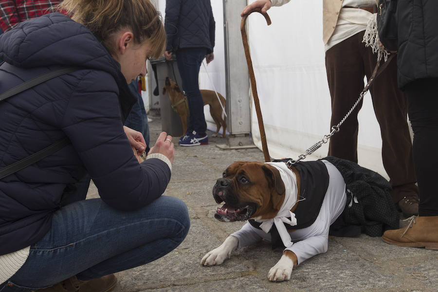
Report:
M 129 89 L 135 94 L 135 96 L 137 96 L 137 102 L 132 106 L 132 109 L 125 121 L 125 126 L 142 133 L 143 137 L 145 138 L 146 145 L 149 147 L 149 123 L 147 122 L 143 98 L 138 93 L 138 82 L 132 81 L 129 83 Z

